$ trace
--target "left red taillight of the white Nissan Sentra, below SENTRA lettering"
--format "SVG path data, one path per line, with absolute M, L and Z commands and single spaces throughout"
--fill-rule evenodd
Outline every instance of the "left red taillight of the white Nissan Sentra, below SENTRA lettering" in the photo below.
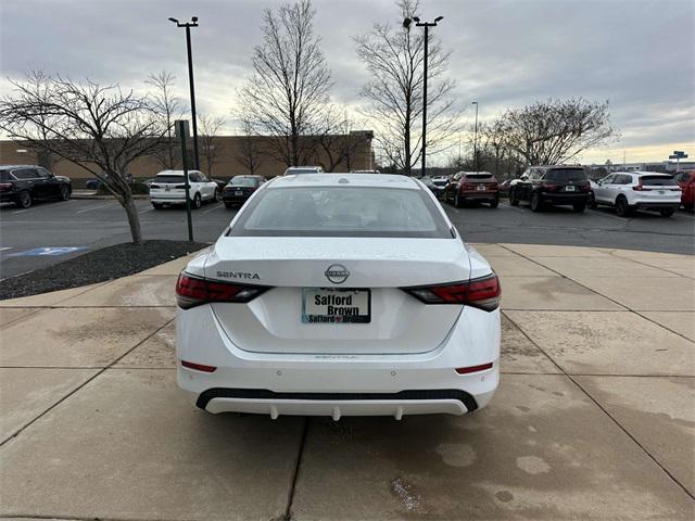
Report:
M 235 284 L 181 272 L 176 281 L 176 304 L 190 309 L 208 302 L 249 302 L 269 290 L 268 285 Z

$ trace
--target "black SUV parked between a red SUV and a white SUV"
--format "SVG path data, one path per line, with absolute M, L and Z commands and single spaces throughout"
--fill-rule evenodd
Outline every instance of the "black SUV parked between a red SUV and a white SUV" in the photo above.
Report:
M 583 212 L 591 185 L 582 166 L 531 166 L 509 189 L 509 204 L 531 203 L 531 211 L 540 212 L 545 205 L 570 205 Z

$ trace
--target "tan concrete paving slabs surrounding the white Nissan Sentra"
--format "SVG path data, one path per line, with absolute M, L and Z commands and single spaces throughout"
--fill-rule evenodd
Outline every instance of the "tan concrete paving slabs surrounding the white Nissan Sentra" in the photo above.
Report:
M 695 257 L 478 247 L 504 374 L 464 417 L 197 410 L 174 371 L 186 258 L 0 302 L 0 514 L 693 519 Z

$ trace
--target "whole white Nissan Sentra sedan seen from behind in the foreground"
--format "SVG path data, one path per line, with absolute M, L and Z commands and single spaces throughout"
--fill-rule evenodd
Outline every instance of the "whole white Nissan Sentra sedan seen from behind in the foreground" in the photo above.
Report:
M 497 387 L 497 276 L 408 177 L 266 182 L 176 293 L 178 384 L 210 412 L 460 415 Z

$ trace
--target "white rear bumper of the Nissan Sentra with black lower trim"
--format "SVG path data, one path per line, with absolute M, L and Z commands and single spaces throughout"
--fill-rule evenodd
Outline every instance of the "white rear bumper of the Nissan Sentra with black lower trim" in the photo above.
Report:
M 480 318 L 490 321 L 488 327 L 471 326 Z M 214 372 L 202 372 L 179 364 L 178 384 L 210 412 L 336 419 L 462 415 L 484 407 L 500 381 L 498 310 L 466 308 L 442 345 L 403 355 L 251 353 L 231 344 L 215 322 L 208 306 L 178 309 L 178 359 L 216 367 Z M 193 323 L 198 334 L 189 340 L 182 330 Z M 478 330 L 471 334 L 471 329 Z M 491 369 L 455 371 L 490 361 Z

